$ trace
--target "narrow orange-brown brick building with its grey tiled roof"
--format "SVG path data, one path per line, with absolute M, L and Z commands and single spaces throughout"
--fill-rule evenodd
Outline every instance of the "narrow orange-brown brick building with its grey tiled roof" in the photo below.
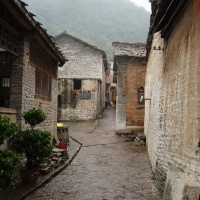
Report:
M 145 44 L 113 42 L 116 132 L 144 125 Z

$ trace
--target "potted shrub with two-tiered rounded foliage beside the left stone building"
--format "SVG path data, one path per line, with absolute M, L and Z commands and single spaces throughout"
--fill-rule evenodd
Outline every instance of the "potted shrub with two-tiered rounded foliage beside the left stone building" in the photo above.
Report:
M 52 152 L 51 133 L 35 129 L 46 119 L 41 109 L 32 108 L 22 114 L 30 128 L 18 132 L 12 139 L 12 148 L 26 158 L 21 170 L 23 182 L 35 182 L 39 176 L 39 165 Z

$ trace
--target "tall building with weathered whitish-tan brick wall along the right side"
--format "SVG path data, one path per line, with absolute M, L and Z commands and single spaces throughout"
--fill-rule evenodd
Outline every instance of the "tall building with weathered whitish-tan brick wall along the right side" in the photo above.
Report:
M 200 1 L 152 1 L 145 134 L 163 199 L 200 198 Z

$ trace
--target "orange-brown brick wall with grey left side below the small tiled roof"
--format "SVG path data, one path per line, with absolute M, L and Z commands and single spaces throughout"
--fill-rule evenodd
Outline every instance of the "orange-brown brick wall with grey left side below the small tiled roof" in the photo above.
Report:
M 116 130 L 144 125 L 144 105 L 138 105 L 138 88 L 145 84 L 145 66 L 142 58 L 130 60 L 118 60 Z

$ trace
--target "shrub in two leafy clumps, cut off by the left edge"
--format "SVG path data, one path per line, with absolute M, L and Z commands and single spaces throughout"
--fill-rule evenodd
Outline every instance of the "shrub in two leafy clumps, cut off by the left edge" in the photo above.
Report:
M 12 123 L 9 117 L 0 116 L 0 146 L 18 130 L 19 126 Z M 13 188 L 18 182 L 20 161 L 19 155 L 14 151 L 0 151 L 0 192 Z

